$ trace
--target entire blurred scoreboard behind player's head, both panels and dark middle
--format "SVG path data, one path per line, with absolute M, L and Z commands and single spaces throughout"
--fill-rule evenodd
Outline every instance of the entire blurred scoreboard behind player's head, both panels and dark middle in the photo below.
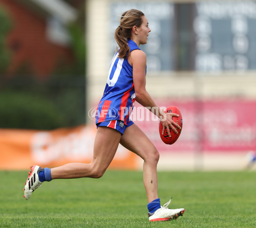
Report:
M 112 2 L 112 32 L 128 9 L 148 18 L 152 31 L 140 48 L 149 71 L 256 69 L 256 1 Z M 115 48 L 112 34 L 111 53 Z

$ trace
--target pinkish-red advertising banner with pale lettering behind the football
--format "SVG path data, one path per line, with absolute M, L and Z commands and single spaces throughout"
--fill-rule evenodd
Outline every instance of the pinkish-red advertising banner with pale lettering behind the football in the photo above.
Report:
M 158 118 L 136 104 L 131 119 L 165 152 L 247 152 L 256 150 L 256 101 L 156 100 L 162 107 L 180 109 L 183 129 L 172 145 L 164 144 L 158 132 Z

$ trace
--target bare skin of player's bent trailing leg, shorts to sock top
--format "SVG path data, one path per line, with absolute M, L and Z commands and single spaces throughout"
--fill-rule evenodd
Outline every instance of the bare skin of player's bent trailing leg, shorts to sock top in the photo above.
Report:
M 90 164 L 69 163 L 51 169 L 52 179 L 91 177 L 99 178 L 110 165 L 121 138 L 121 133 L 109 127 L 98 127 Z

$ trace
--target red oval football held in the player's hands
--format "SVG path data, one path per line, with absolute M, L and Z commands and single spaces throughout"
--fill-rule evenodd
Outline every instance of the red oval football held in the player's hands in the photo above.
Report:
M 177 139 L 180 137 L 180 133 L 181 133 L 181 130 L 182 130 L 182 124 L 183 124 L 183 122 L 182 122 L 182 115 L 180 113 L 180 110 L 176 106 L 168 107 L 165 110 L 165 113 L 176 113 L 176 114 L 179 115 L 179 117 L 173 116 L 172 120 L 175 121 L 177 124 L 179 124 L 181 129 L 179 130 L 179 129 L 176 128 L 178 133 L 175 134 L 175 132 L 172 130 L 172 128 L 169 127 L 170 133 L 171 133 L 172 137 L 169 137 L 167 129 L 164 130 L 164 133 L 162 135 L 163 125 L 161 124 L 161 121 L 159 121 L 159 133 L 160 133 L 160 137 L 161 137 L 162 141 L 165 144 L 174 144 L 175 141 L 177 141 Z

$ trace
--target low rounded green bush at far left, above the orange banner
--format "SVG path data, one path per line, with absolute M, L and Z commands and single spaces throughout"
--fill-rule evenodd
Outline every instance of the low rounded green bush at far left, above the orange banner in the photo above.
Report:
M 0 92 L 0 127 L 54 129 L 64 125 L 64 115 L 54 103 L 27 92 Z

